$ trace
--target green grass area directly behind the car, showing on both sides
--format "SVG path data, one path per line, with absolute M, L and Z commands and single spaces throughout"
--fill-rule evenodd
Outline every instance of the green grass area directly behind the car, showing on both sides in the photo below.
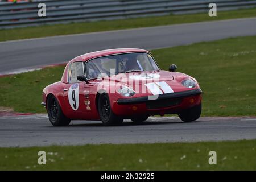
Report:
M 256 115 L 256 36 L 152 51 L 160 68 L 177 65 L 203 90 L 203 116 Z M 0 106 L 42 113 L 42 90 L 59 81 L 64 67 L 0 78 Z

